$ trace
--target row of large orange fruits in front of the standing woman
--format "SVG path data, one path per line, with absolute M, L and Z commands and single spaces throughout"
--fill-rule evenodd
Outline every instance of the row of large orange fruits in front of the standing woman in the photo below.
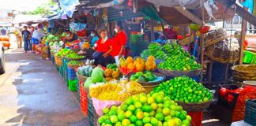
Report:
M 155 57 L 149 56 L 148 60 L 145 61 L 141 57 L 127 57 L 120 58 L 120 68 L 121 69 L 127 69 L 129 71 L 133 72 L 143 72 L 143 71 L 151 71 L 156 69 L 156 60 Z

